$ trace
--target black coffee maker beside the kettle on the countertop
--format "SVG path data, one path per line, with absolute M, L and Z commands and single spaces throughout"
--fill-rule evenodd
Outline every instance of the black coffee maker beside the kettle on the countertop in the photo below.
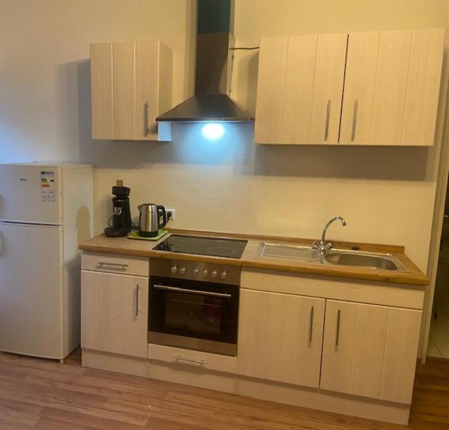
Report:
M 133 227 L 131 222 L 131 212 L 129 206 L 129 194 L 131 190 L 123 187 L 123 181 L 118 180 L 115 187 L 112 187 L 112 217 L 109 218 L 109 227 L 105 228 L 105 234 L 109 237 L 122 237 L 128 235 Z M 112 224 L 111 224 L 112 220 Z

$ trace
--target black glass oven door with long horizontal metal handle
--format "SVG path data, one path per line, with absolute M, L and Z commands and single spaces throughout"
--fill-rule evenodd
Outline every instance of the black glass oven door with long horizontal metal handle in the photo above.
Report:
M 235 356 L 239 287 L 153 276 L 148 341 Z

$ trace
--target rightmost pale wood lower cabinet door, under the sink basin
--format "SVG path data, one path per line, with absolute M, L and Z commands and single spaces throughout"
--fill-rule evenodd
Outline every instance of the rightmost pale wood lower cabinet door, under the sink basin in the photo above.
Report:
M 327 300 L 321 389 L 409 404 L 421 314 Z

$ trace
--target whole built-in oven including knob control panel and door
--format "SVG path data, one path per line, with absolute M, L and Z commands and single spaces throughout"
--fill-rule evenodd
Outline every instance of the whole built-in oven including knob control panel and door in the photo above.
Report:
M 148 342 L 235 356 L 240 267 L 152 260 Z

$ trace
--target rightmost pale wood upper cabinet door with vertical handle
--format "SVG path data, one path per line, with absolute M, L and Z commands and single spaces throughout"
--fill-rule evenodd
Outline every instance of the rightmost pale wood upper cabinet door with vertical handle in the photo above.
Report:
M 434 144 L 444 32 L 349 34 L 340 143 Z

